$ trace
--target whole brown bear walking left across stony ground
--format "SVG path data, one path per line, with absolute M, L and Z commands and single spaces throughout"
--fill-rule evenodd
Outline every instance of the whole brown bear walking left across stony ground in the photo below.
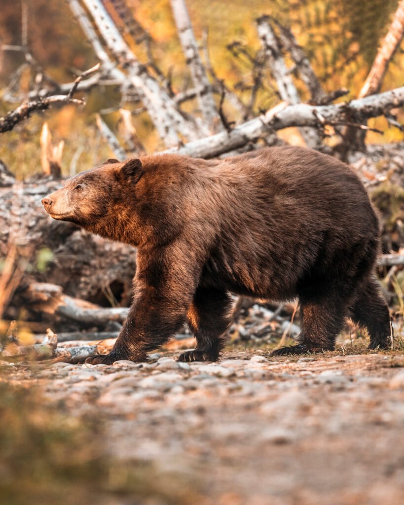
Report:
M 385 348 L 390 319 L 374 275 L 379 223 L 358 177 L 301 147 L 224 160 L 163 154 L 108 160 L 43 198 L 54 219 L 137 247 L 134 299 L 107 356 L 143 361 L 184 322 L 197 341 L 180 361 L 215 361 L 230 293 L 299 298 L 298 344 L 273 354 L 334 349 L 350 317 Z

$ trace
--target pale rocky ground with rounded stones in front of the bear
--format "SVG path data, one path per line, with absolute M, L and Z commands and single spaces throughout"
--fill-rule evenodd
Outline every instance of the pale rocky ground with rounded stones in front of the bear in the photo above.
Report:
M 404 503 L 402 352 L 275 359 L 256 348 L 227 350 L 215 364 L 173 358 L 7 365 L 3 380 L 38 386 L 74 416 L 95 414 L 111 458 L 175 475 L 195 505 Z

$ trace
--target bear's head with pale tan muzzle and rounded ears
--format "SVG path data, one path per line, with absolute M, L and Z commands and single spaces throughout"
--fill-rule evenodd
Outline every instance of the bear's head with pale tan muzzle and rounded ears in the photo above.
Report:
M 69 179 L 63 188 L 42 198 L 42 205 L 54 219 L 107 236 L 103 229 L 127 212 L 128 200 L 133 199 L 130 195 L 142 173 L 138 158 L 123 163 L 110 159 Z

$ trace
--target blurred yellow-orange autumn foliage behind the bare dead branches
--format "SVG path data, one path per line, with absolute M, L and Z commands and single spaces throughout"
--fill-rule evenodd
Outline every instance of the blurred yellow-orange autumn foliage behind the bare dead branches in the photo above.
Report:
M 224 79 L 232 88 L 241 83 L 241 89 L 236 93 L 244 101 L 249 99 L 248 86 L 252 84 L 251 65 L 236 60 L 229 52 L 227 45 L 234 40 L 239 41 L 254 54 L 260 47 L 255 20 L 268 14 L 281 23 L 291 27 L 298 43 L 305 51 L 313 65 L 316 74 L 322 81 L 326 91 L 347 87 L 350 93 L 346 100 L 357 96 L 369 71 L 369 58 L 377 50 L 378 40 L 388 27 L 389 16 L 396 7 L 394 0 L 360 0 L 353 5 L 348 0 L 308 0 L 307 2 L 286 0 L 266 3 L 262 0 L 186 0 L 189 15 L 193 24 L 195 36 L 200 43 L 205 30 L 209 33 L 209 54 L 212 65 L 219 78 Z M 171 12 L 170 0 L 126 0 L 136 20 L 149 31 L 154 38 L 153 55 L 164 73 L 172 70 L 172 87 L 174 91 L 182 91 L 190 84 L 189 71 L 178 40 L 175 23 Z M 108 9 L 113 9 L 112 2 L 106 2 Z M 4 0 L 3 14 L 0 13 L 0 28 L 4 31 L 7 43 L 19 43 L 21 25 L 20 12 L 15 9 L 12 0 Z M 18 12 L 17 12 L 18 11 Z M 30 43 L 32 52 L 46 73 L 58 81 L 71 81 L 72 68 L 88 68 L 95 63 L 95 55 L 91 46 L 85 40 L 80 26 L 72 18 L 68 6 L 60 7 L 46 0 L 30 2 Z M 115 13 L 114 19 L 118 20 Z M 363 20 L 363 22 L 361 22 Z M 118 20 L 119 21 L 119 20 Z M 119 21 L 125 39 L 130 44 L 136 56 L 145 63 L 147 54 L 144 44 L 138 44 L 133 37 L 125 33 L 125 23 Z M 56 44 L 55 41 L 63 41 Z M 202 54 L 204 59 L 204 54 Z M 14 58 L 14 60 L 13 60 Z M 5 54 L 0 79 L 9 82 L 10 73 L 22 62 L 21 55 Z M 292 66 L 287 59 L 287 64 Z M 14 65 L 14 66 L 13 66 Z M 402 69 L 404 54 L 397 52 L 390 63 L 385 76 L 383 90 L 402 85 Z M 23 71 L 19 91 L 25 92 L 32 87 L 32 75 Z M 273 107 L 278 103 L 276 86 L 269 74 L 264 75 L 265 91 L 257 96 L 255 112 Z M 296 87 L 303 100 L 308 98 L 304 84 L 295 79 Z M 39 133 L 43 121 L 49 123 L 54 142 L 65 140 L 63 154 L 64 174 L 69 174 L 73 155 L 81 154 L 76 170 L 80 171 L 111 157 L 113 153 L 106 142 L 100 139 L 95 127 L 94 113 L 103 109 L 122 106 L 119 92 L 112 88 L 94 88 L 86 96 L 87 105 L 84 110 L 75 106 L 63 107 L 46 111 L 42 115 L 31 117 L 20 125 L 16 131 L 6 133 L 0 144 L 0 159 L 2 159 L 19 177 L 40 171 Z M 185 112 L 194 113 L 196 101 L 182 105 Z M 10 110 L 12 106 L 0 104 L 0 114 Z M 15 107 L 15 105 L 14 105 Z M 128 103 L 127 109 L 138 105 Z M 226 104 L 226 112 L 233 117 L 231 108 Z M 404 113 L 398 111 L 398 119 L 404 121 Z M 119 113 L 104 115 L 109 127 L 118 132 Z M 164 147 L 156 130 L 146 113 L 133 118 L 133 124 L 142 143 L 148 151 Z M 381 128 L 385 134 L 381 137 L 369 133 L 368 142 L 394 141 L 403 138 L 397 129 L 388 128 L 383 118 L 370 121 L 370 126 Z M 289 132 L 280 134 L 290 141 L 299 142 L 299 135 Z M 74 167 L 72 167 L 74 169 Z

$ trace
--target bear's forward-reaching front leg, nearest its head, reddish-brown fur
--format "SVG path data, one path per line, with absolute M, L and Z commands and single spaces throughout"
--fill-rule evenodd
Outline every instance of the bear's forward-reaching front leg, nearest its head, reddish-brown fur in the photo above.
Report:
M 148 251 L 147 259 L 151 260 L 146 261 L 144 253 L 138 251 L 135 297 L 128 318 L 110 354 L 91 356 L 86 363 L 146 361 L 147 352 L 164 344 L 184 324 L 196 289 L 195 267 L 178 255 L 173 263 L 165 253 Z

